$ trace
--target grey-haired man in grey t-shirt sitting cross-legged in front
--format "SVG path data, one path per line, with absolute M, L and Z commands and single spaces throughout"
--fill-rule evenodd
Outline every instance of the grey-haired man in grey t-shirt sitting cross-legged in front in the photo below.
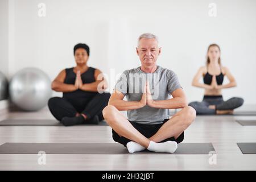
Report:
M 122 73 L 102 111 L 113 129 L 113 139 L 130 153 L 146 148 L 175 152 L 177 143 L 184 139 L 184 130 L 196 117 L 195 109 L 187 105 L 176 74 L 156 65 L 160 53 L 155 35 L 141 35 L 137 47 L 141 67 Z M 172 98 L 168 97 L 170 94 Z M 123 100 L 125 96 L 127 101 Z M 177 108 L 182 109 L 170 118 L 169 109 Z M 121 110 L 127 110 L 128 119 Z

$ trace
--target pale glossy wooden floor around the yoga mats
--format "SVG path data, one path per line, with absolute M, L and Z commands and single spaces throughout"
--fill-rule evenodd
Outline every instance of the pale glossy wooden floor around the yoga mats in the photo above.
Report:
M 3 119 L 4 116 L 1 116 Z M 48 109 L 36 113 L 10 113 L 11 118 L 52 118 Z M 255 170 L 256 155 L 243 155 L 237 142 L 256 142 L 256 126 L 241 126 L 236 119 L 255 117 L 199 116 L 185 131 L 184 142 L 211 142 L 217 164 L 209 155 L 38 155 L 0 154 L 0 170 Z M 114 142 L 109 126 L 0 126 L 5 142 Z

